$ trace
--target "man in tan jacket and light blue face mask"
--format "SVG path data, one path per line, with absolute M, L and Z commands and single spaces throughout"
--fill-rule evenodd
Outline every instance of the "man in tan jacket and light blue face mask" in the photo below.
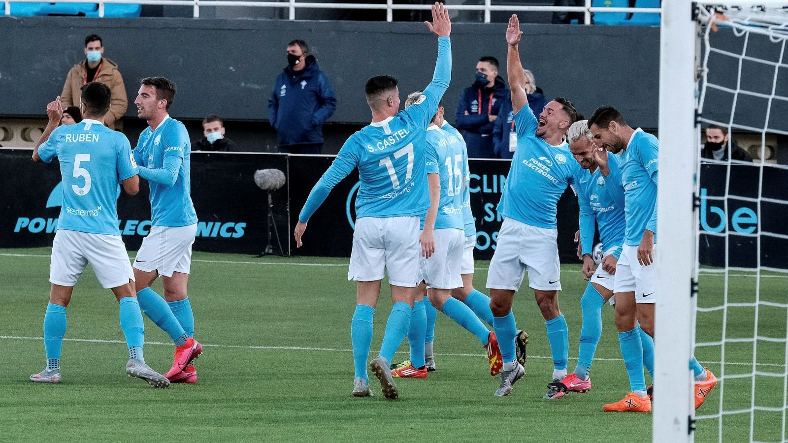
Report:
M 104 125 L 114 129 L 115 121 L 126 114 L 128 98 L 126 87 L 123 84 L 121 72 L 117 70 L 117 63 L 104 58 L 104 45 L 99 35 L 91 34 L 85 37 L 85 58 L 73 65 L 69 75 L 65 77 L 63 92 L 60 100 L 63 107 L 80 106 L 82 91 L 80 87 L 91 81 L 98 81 L 110 87 L 112 99 L 110 110 L 104 116 Z

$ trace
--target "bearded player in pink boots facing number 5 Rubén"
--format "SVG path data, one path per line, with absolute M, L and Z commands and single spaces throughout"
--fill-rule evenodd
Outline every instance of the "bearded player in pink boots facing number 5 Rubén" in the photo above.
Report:
M 134 158 L 139 176 L 151 185 L 151 232 L 134 260 L 139 306 L 173 339 L 175 360 L 164 374 L 170 382 L 196 383 L 191 364 L 203 352 L 195 341 L 195 318 L 187 286 L 197 214 L 191 203 L 191 143 L 186 127 L 169 117 L 175 84 L 164 77 L 141 82 L 134 104 L 148 127 L 139 135 Z M 164 299 L 151 285 L 162 276 Z M 166 300 L 166 301 L 165 301 Z

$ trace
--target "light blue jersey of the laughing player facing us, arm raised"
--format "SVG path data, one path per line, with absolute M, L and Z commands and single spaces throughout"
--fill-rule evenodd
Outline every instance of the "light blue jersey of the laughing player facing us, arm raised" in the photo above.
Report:
M 498 212 L 526 225 L 556 229 L 558 200 L 581 168 L 566 142 L 552 146 L 537 136 L 538 125 L 528 106 L 515 114 L 517 150 Z

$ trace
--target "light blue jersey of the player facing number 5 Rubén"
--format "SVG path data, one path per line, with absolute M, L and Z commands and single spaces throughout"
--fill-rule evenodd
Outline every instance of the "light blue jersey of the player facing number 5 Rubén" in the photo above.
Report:
M 184 124 L 169 115 L 155 131 L 150 126 L 145 128 L 134 149 L 134 158 L 146 169 L 162 169 L 168 157 L 179 164 L 173 171 L 175 181 L 169 186 L 169 183 L 154 181 L 140 168 L 139 175 L 151 185 L 151 225 L 193 225 L 197 222 L 197 214 L 191 203 L 191 142 Z

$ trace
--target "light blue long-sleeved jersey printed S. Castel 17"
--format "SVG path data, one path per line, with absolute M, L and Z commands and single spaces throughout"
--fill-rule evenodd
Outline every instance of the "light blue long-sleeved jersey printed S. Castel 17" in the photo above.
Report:
M 357 218 L 425 214 L 429 209 L 426 129 L 451 76 L 451 43 L 448 37 L 440 37 L 435 74 L 422 96 L 406 110 L 373 122 L 348 138 L 312 188 L 299 221 L 309 221 L 331 189 L 355 168 L 359 168 L 361 181 L 355 199 Z

